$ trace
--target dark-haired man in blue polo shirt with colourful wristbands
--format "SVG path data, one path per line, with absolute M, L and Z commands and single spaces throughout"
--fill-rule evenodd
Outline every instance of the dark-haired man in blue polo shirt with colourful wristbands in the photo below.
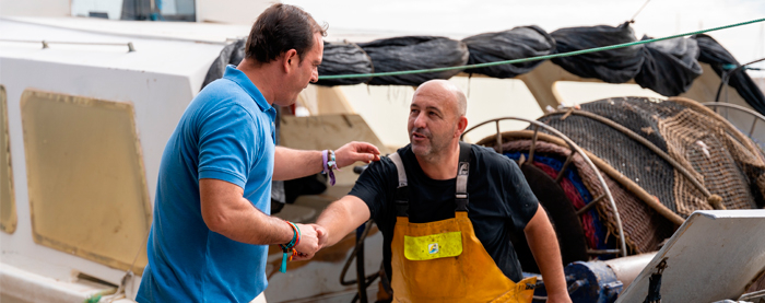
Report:
M 191 101 L 162 156 L 137 301 L 250 302 L 268 284 L 268 245 L 295 242 L 299 229 L 298 259 L 320 248 L 321 226 L 269 213 L 272 179 L 331 170 L 327 151 L 274 147 L 271 106 L 318 80 L 323 35 L 305 11 L 274 4 L 252 25 L 242 63 Z M 363 142 L 334 154 L 337 167 L 379 160 Z

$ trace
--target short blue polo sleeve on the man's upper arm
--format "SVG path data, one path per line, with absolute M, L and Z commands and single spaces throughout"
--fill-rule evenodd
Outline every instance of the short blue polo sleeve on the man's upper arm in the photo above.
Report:
M 252 116 L 242 106 L 215 108 L 199 123 L 199 178 L 245 188 L 260 144 Z

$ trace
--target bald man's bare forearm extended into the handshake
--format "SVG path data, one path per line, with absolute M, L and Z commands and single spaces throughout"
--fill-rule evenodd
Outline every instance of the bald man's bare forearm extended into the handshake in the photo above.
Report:
M 326 230 L 326 238 L 320 238 L 321 247 L 332 246 L 353 230 L 369 220 L 369 208 L 358 197 L 348 195 L 332 202 L 321 212 L 316 224 Z

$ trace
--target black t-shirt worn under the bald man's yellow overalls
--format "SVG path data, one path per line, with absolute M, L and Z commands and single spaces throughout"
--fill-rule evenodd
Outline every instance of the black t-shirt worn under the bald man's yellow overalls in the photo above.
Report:
M 399 150 L 409 182 L 409 221 L 426 223 L 455 218 L 456 178 L 436 180 L 420 167 L 411 145 Z M 388 158 L 370 164 L 349 195 L 364 200 L 382 232 L 384 263 L 391 277 L 390 243 L 396 225 L 396 164 Z M 497 267 L 511 280 L 522 279 L 510 235 L 522 231 L 539 202 L 518 165 L 494 150 L 472 145 L 468 175 L 468 218 L 476 237 Z

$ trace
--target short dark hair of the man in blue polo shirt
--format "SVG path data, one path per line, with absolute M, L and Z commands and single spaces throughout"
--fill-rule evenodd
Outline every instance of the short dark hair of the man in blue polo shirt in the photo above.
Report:
M 273 4 L 252 24 L 245 46 L 245 58 L 268 63 L 283 53 L 295 49 L 302 62 L 303 55 L 314 47 L 314 34 L 327 35 L 325 27 L 301 8 Z

